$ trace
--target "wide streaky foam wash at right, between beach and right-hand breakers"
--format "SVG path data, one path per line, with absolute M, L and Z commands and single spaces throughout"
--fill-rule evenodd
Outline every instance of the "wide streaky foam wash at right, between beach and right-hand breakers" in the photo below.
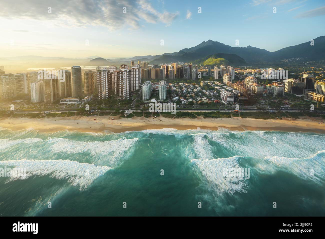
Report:
M 304 158 L 324 149 L 322 142 L 325 140 L 321 135 L 265 131 L 212 132 L 207 136 L 233 154 L 260 158 L 270 156 Z

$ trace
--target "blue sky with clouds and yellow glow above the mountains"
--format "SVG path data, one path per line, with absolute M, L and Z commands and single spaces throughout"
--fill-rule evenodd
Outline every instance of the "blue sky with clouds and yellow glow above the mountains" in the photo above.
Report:
M 324 22 L 324 0 L 0 0 L 0 58 L 160 55 L 209 39 L 276 51 L 325 35 Z

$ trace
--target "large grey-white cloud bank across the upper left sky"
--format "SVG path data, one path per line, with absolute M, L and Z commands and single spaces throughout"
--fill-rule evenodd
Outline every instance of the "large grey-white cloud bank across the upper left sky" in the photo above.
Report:
M 141 21 L 170 25 L 179 14 L 159 12 L 144 0 L 15 0 L 15 7 L 12 4 L 12 0 L 1 0 L 0 18 L 35 19 L 59 27 L 104 26 L 109 30 L 125 26 L 138 29 Z

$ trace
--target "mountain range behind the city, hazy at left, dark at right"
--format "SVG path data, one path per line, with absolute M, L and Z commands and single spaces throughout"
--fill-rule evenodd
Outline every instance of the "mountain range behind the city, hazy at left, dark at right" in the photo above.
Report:
M 218 55 L 226 54 L 226 55 Z M 212 58 L 211 58 L 212 57 Z M 217 58 L 215 58 L 217 57 Z M 210 60 L 208 60 L 211 58 Z M 223 58 L 223 59 L 218 59 Z M 218 60 L 217 60 L 218 59 Z M 2 57 L 0 65 L 7 66 L 6 69 L 26 69 L 30 67 L 65 67 L 72 65 L 119 65 L 130 64 L 131 60 L 149 61 L 150 64 L 162 64 L 170 62 L 192 62 L 197 64 L 211 64 L 215 62 L 225 62 L 231 66 L 270 66 L 285 65 L 286 62 L 302 63 L 306 61 L 325 60 L 325 36 L 310 41 L 282 48 L 275 52 L 269 52 L 253 46 L 231 47 L 212 40 L 201 42 L 191 48 L 184 48 L 178 52 L 164 53 L 162 55 L 147 55 L 123 58 L 102 58 L 90 56 L 85 58 L 65 58 L 65 57 L 40 57 L 40 56 L 21 56 L 21 57 Z M 208 61 L 207 61 L 208 60 Z M 216 64 L 217 65 L 217 64 Z M 225 64 L 226 65 L 226 64 Z M 19 69 L 19 70 L 20 70 Z

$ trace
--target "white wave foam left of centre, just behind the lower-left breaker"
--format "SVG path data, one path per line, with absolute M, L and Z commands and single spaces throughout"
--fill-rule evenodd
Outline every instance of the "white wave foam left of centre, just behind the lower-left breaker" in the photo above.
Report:
M 66 152 L 68 154 L 90 152 L 92 156 L 103 155 L 106 158 L 110 158 L 110 164 L 113 164 L 116 160 L 120 159 L 124 152 L 132 147 L 138 138 L 133 139 L 118 139 L 111 141 L 93 141 L 93 142 L 83 142 L 71 139 L 56 138 L 51 139 L 50 149 L 52 152 Z M 102 163 L 106 165 L 106 163 Z

